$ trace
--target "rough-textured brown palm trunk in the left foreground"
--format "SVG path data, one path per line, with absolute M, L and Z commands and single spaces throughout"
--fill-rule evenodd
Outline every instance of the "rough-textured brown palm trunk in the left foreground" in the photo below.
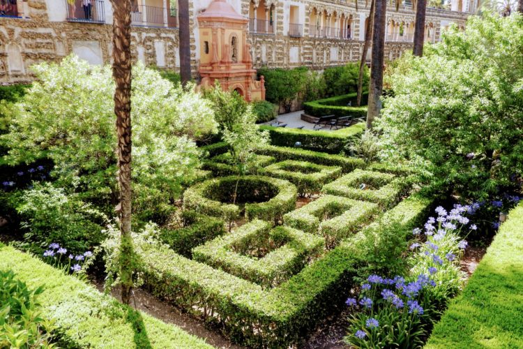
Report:
M 118 134 L 118 183 L 120 203 L 119 213 L 120 279 L 122 302 L 129 304 L 132 291 L 132 239 L 131 239 L 131 51 L 130 51 L 130 0 L 112 0 L 113 9 L 113 59 L 112 74 L 116 89 L 114 91 L 114 114 Z

